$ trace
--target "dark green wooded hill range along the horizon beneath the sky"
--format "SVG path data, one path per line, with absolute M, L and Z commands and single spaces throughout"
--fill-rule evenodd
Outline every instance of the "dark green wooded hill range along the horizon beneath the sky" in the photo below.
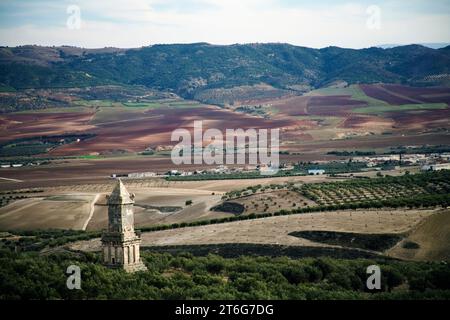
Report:
M 0 86 L 15 89 L 136 84 L 193 98 L 206 90 L 256 84 L 277 89 L 320 87 L 338 80 L 448 84 L 449 74 L 449 47 L 420 45 L 360 50 L 279 43 L 0 48 Z

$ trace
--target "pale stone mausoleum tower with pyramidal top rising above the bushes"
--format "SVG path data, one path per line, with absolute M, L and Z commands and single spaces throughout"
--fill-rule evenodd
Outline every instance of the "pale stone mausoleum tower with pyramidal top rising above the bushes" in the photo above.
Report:
M 141 238 L 134 232 L 134 194 L 120 179 L 107 196 L 108 230 L 102 235 L 103 262 L 127 272 L 147 270 L 139 255 Z

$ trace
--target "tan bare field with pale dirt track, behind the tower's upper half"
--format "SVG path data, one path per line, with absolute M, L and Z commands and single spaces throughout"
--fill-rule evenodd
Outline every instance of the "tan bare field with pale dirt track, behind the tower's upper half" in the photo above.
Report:
M 48 189 L 0 208 L 0 230 L 74 229 L 107 227 L 106 195 L 110 188 Z M 107 190 L 107 191 L 106 191 Z M 171 224 L 230 216 L 210 211 L 222 193 L 168 187 L 130 188 L 136 194 L 136 226 Z M 192 204 L 187 205 L 186 201 Z

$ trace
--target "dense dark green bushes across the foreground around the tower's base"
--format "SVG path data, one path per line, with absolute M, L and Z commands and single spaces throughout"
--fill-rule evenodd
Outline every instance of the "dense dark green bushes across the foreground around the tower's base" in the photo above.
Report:
M 146 272 L 110 270 L 92 253 L 0 252 L 0 299 L 449 299 L 441 263 L 331 258 L 194 257 L 143 252 Z M 381 268 L 382 290 L 366 289 L 366 268 Z M 81 268 L 81 289 L 66 270 Z

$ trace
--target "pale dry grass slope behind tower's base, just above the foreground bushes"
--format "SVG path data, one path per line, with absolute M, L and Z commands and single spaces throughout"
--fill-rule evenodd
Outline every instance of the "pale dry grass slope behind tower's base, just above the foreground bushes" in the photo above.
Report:
M 142 234 L 143 246 L 202 245 L 221 243 L 327 246 L 290 236 L 293 231 L 326 230 L 356 233 L 404 233 L 433 210 L 335 211 L 237 221 Z M 100 241 L 82 241 L 74 249 L 98 250 Z

